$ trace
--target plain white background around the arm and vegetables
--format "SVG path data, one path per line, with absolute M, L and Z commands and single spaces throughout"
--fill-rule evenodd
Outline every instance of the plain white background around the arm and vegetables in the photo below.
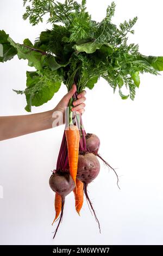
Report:
M 87 0 L 92 18 L 100 21 L 110 2 Z M 117 25 L 139 16 L 130 42 L 139 43 L 143 54 L 163 56 L 162 1 L 115 2 Z M 0 29 L 16 42 L 34 41 L 41 31 L 51 28 L 46 23 L 32 27 L 22 20 L 23 11 L 21 0 L 1 0 Z M 12 88 L 25 88 L 26 70 L 32 69 L 17 57 L 0 64 L 0 115 L 27 114 L 24 96 L 12 92 Z M 32 112 L 52 109 L 65 93 L 62 86 L 51 102 Z M 100 137 L 101 155 L 118 168 L 120 176 L 121 191 L 114 173 L 101 163 L 101 173 L 89 186 L 102 234 L 86 202 L 81 217 L 76 214 L 71 193 L 52 240 L 54 194 L 48 179 L 56 166 L 64 126 L 1 142 L 1 245 L 162 245 L 162 95 L 163 77 L 148 74 L 141 76 L 135 101 L 122 101 L 102 79 L 92 91 L 87 90 L 85 129 Z

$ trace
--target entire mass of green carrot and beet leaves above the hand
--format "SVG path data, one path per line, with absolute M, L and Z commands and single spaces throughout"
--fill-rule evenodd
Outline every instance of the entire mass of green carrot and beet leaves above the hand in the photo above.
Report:
M 24 40 L 16 44 L 9 35 L 0 31 L 0 43 L 4 57 L 0 62 L 14 57 L 28 59 L 28 65 L 36 68 L 27 71 L 27 88 L 16 91 L 25 94 L 26 110 L 40 106 L 52 98 L 64 82 L 70 90 L 77 85 L 78 93 L 85 87 L 92 89 L 99 77 L 103 77 L 118 92 L 122 99 L 134 100 L 136 88 L 140 86 L 140 74 L 148 72 L 158 75 L 163 71 L 163 57 L 143 56 L 139 45 L 128 44 L 128 34 L 134 34 L 137 17 L 124 21 L 120 26 L 112 24 L 115 3 L 106 9 L 101 22 L 91 19 L 86 10 L 86 0 L 79 4 L 74 0 L 64 3 L 55 0 L 24 0 L 26 13 L 34 26 L 48 14 L 52 29 L 41 32 L 35 43 Z M 59 23 L 59 24 L 58 24 Z M 123 94 L 123 87 L 129 91 Z

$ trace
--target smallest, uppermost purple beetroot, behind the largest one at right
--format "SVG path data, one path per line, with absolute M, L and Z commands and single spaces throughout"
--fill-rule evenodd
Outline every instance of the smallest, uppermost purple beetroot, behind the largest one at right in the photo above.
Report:
M 99 146 L 100 146 L 99 138 L 95 134 L 92 134 L 92 133 L 87 133 L 85 138 L 86 138 L 87 151 L 97 155 Z

